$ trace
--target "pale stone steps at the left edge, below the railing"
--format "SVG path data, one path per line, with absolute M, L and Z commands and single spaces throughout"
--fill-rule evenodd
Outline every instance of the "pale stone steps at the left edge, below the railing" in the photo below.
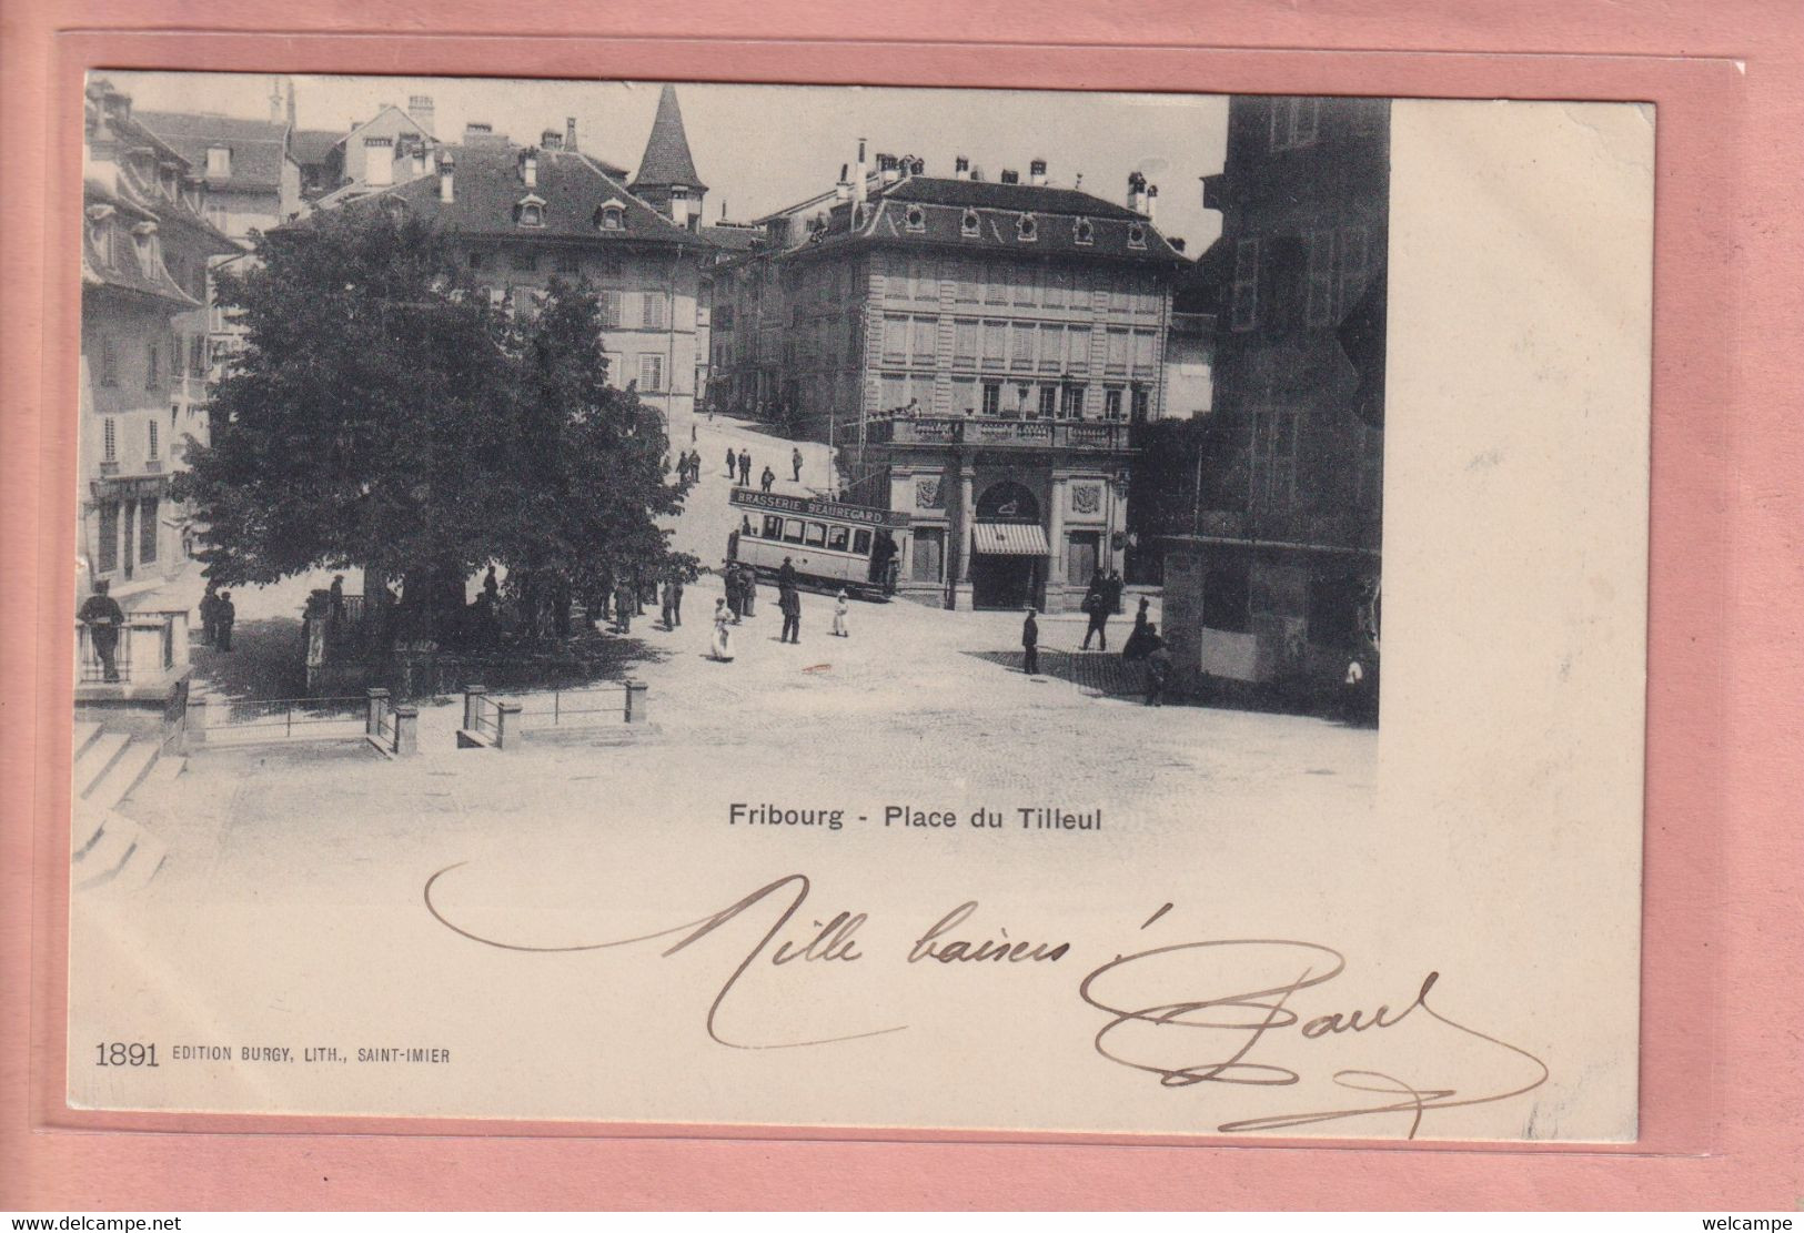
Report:
M 76 797 L 72 885 L 137 889 L 162 867 L 157 836 L 117 806 L 152 773 L 159 748 L 97 723 L 76 725 Z

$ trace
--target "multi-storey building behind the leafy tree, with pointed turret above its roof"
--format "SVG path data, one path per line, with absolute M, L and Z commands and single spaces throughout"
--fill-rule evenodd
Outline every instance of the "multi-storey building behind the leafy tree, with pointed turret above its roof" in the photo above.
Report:
M 660 151 L 680 146 L 687 159 L 667 87 L 666 97 L 671 106 L 658 110 L 637 178 L 648 189 L 660 187 L 660 166 L 667 171 Z M 570 121 L 532 146 L 485 124 L 471 124 L 462 144 L 402 137 L 388 186 L 348 200 L 391 204 L 440 229 L 471 281 L 498 306 L 525 310 L 552 278 L 586 278 L 601 292 L 610 380 L 666 413 L 693 409 L 707 371 L 713 265 L 698 177 L 691 175 L 687 193 L 662 195 L 660 209 L 628 189 L 619 168 L 574 150 L 574 135 Z

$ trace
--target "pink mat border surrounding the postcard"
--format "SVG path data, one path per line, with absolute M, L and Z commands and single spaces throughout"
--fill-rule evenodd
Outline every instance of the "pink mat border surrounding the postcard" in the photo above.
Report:
M 417 0 L 388 5 L 388 27 L 460 34 L 370 38 L 370 9 L 352 0 L 238 0 L 204 13 L 143 0 L 9 4 L 0 957 L 7 988 L 29 981 L 32 997 L 0 1006 L 0 1208 L 1797 1206 L 1804 22 L 1793 9 L 1719 0 L 1699 5 L 1708 23 L 1645 9 L 1631 31 L 1620 7 L 1595 0 L 1532 0 L 1503 16 L 1476 4 L 1431 14 L 1407 0 L 1310 13 L 1061 0 L 1014 5 L 1007 18 L 920 0 L 633 0 L 583 23 L 594 38 L 547 40 L 575 32 L 577 18 L 561 5 Z M 126 23 L 162 32 L 97 32 Z M 290 34 L 253 32 L 269 27 Z M 1342 50 L 1295 50 L 1328 43 Z M 1371 50 L 1385 47 L 1394 50 Z M 1678 49 L 1690 58 L 1665 56 Z M 88 65 L 1656 103 L 1640 1141 L 1373 1148 L 65 1110 L 63 665 L 74 600 L 54 582 L 74 550 L 63 481 L 74 440 L 72 418 L 45 407 L 76 404 L 79 296 L 72 278 L 45 278 L 45 258 L 52 270 L 74 269 L 72 133 Z M 52 584 L 36 589 L 40 579 Z

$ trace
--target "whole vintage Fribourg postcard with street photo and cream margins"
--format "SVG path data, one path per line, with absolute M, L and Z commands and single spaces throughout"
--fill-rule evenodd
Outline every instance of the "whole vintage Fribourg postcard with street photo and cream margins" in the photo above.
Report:
M 1652 108 L 81 141 L 70 1107 L 1634 1139 Z

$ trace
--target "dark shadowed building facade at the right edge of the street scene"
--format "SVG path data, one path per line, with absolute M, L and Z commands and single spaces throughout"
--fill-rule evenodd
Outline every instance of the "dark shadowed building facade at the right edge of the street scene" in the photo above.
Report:
M 1376 649 L 1389 103 L 1232 99 L 1203 202 L 1214 409 L 1165 635 L 1180 681 L 1333 690 Z

